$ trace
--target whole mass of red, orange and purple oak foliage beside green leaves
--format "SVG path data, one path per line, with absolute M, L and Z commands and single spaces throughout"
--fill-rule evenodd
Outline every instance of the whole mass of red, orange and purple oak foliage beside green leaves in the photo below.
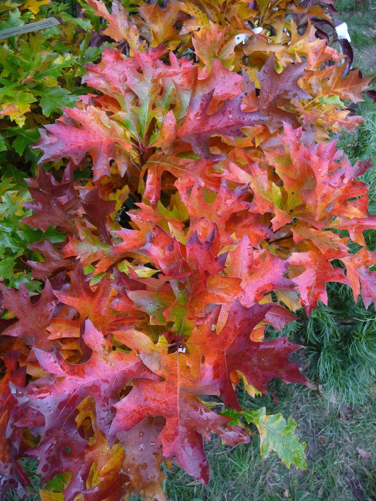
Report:
M 264 331 L 326 303 L 327 282 L 376 302 L 370 163 L 328 142 L 361 122 L 343 101 L 369 80 L 317 38 L 328 1 L 87 3 L 121 44 L 35 145 L 48 169 L 23 222 L 66 240 L 32 244 L 40 295 L 0 285 L 0 490 L 22 492 L 33 455 L 42 483 L 63 474 L 54 499 L 163 499 L 162 463 L 207 482 L 203 438 L 248 442 L 250 424 L 304 468 L 295 423 L 242 411 L 235 388 L 307 383 L 301 346 Z

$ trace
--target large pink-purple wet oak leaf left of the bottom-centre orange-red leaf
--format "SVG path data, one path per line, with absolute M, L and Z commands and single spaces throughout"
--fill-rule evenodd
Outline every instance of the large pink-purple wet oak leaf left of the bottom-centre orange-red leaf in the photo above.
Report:
M 17 398 L 20 405 L 44 416 L 43 440 L 51 435 L 51 430 L 62 429 L 77 405 L 89 396 L 95 399 L 98 429 L 107 434 L 114 415 L 111 406 L 119 400 L 123 386 L 133 377 L 155 378 L 134 352 L 113 351 L 111 341 L 89 320 L 85 322 L 82 339 L 91 356 L 81 364 L 66 362 L 56 352 L 34 350 L 42 369 L 55 378 L 45 386 L 29 383 Z

